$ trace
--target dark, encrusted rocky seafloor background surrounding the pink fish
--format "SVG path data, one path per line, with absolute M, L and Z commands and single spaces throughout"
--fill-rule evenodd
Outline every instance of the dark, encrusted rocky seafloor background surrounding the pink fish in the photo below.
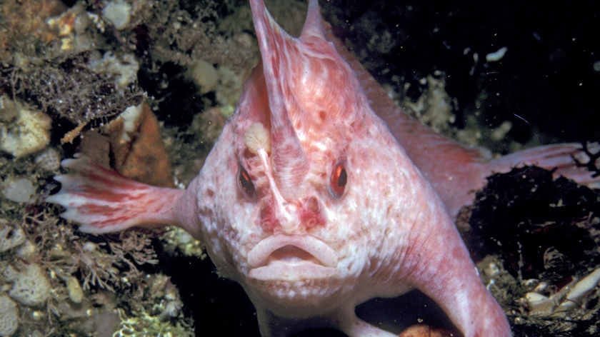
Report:
M 321 2 L 366 68 L 436 131 L 500 154 L 600 139 L 591 5 Z M 269 9 L 297 31 L 306 5 Z M 79 151 L 186 186 L 258 58 L 246 1 L 0 1 L 0 336 L 259 334 L 244 291 L 186 233 L 89 235 L 44 202 L 61 159 Z M 599 212 L 598 191 L 536 168 L 490 177 L 461 212 L 515 336 L 598 333 Z M 419 293 L 357 313 L 394 331 L 452 329 Z

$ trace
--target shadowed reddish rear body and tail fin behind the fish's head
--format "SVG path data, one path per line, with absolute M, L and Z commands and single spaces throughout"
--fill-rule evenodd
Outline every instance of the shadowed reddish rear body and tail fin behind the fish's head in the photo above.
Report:
M 419 168 L 446 205 L 451 216 L 460 208 L 473 202 L 475 192 L 486 183 L 491 173 L 506 173 L 515 166 L 535 165 L 551 171 L 554 176 L 566 176 L 581 185 L 600 188 L 598 177 L 577 165 L 590 158 L 581 144 L 551 144 L 494 158 L 490 151 L 479 146 L 466 146 L 454 139 L 437 134 L 421 124 L 396 105 L 389 94 L 369 74 L 344 44 L 336 39 L 326 25 L 326 37 L 335 45 L 339 54 L 350 64 L 369 99 L 371 109 L 386 122 L 391 133 L 399 141 L 411 161 Z M 591 143 L 586 151 L 600 151 L 600 144 Z M 596 167 L 600 164 L 595 159 Z

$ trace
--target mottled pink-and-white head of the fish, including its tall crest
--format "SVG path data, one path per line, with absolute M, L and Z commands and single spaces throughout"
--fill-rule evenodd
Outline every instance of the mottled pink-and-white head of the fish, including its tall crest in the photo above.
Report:
M 361 293 L 356 283 L 374 268 L 386 203 L 395 201 L 384 172 L 402 163 L 356 74 L 326 40 L 316 1 L 299 37 L 262 1 L 251 9 L 261 63 L 206 160 L 212 167 L 203 171 L 215 176 L 203 180 L 219 182 L 211 200 L 200 197 L 200 208 L 214 208 L 201 209 L 209 214 L 201 221 L 219 237 L 209 255 L 255 306 L 313 315 Z

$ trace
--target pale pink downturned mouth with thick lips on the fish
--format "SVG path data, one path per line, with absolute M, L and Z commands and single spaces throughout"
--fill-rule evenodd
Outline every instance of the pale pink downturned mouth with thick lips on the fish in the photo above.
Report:
M 327 278 L 337 262 L 333 248 L 312 236 L 269 236 L 248 253 L 249 277 L 261 281 Z

